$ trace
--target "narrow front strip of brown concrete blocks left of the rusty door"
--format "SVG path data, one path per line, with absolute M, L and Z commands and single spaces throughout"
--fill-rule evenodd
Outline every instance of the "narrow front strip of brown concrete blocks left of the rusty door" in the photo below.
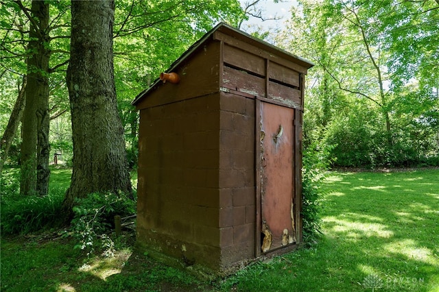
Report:
M 254 258 L 254 99 L 222 93 L 219 123 L 219 202 L 222 265 Z

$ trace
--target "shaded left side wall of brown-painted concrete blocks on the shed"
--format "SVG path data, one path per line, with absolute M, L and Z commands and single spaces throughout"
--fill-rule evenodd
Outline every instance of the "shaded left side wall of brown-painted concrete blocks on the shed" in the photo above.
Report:
M 138 242 L 219 269 L 219 93 L 141 110 Z

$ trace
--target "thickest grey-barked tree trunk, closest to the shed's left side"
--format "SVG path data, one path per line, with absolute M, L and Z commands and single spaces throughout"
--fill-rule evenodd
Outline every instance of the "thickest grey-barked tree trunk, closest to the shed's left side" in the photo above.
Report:
M 113 73 L 114 1 L 72 1 L 67 69 L 73 173 L 64 207 L 93 192 L 129 192 L 123 127 Z

